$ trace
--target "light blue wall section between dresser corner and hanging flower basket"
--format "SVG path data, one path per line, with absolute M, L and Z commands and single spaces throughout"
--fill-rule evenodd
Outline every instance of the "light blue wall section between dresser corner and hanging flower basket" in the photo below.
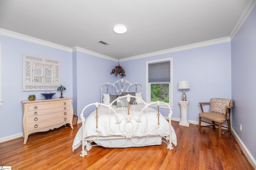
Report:
M 113 83 L 118 79 L 110 75 L 117 62 L 79 51 L 73 53 L 73 57 L 76 58 L 76 68 L 73 68 L 76 71 L 76 81 L 73 82 L 73 89 L 77 92 L 77 112 L 75 114 L 79 115 L 78 120 L 80 120 L 80 113 L 86 105 L 101 102 L 100 85 L 106 82 Z M 89 111 L 93 109 L 95 107 L 92 107 Z M 89 114 L 90 112 L 84 113 L 85 117 Z

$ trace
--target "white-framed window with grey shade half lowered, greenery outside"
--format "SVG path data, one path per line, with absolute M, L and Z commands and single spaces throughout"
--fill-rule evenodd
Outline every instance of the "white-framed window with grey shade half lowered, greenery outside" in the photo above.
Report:
M 146 62 L 147 103 L 162 101 L 172 105 L 172 58 Z M 162 106 L 164 107 L 164 105 Z

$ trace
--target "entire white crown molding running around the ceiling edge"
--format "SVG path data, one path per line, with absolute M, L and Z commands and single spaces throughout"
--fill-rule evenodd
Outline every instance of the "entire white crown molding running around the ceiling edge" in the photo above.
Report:
M 218 39 L 214 39 L 214 40 L 208 40 L 208 41 L 204 41 L 204 42 L 198 42 L 198 43 L 183 45 L 183 46 L 180 46 L 180 47 L 174 47 L 174 48 L 164 49 L 164 50 L 160 50 L 160 51 L 154 51 L 152 53 L 145 53 L 145 54 L 142 54 L 142 55 L 134 55 L 134 56 L 131 56 L 131 57 L 122 58 L 122 59 L 120 59 L 120 61 L 128 61 L 128 60 L 133 60 L 133 59 L 150 57 L 150 56 L 154 56 L 154 55 L 173 53 L 173 52 L 176 52 L 176 51 L 182 51 L 182 50 L 186 50 L 186 49 L 204 47 L 204 46 L 207 46 L 207 45 L 214 45 L 214 44 L 218 44 L 218 43 L 230 42 L 234 38 L 234 36 L 238 32 L 238 30 L 241 28 L 241 26 L 244 24 L 245 20 L 250 15 L 250 13 L 252 12 L 252 10 L 254 9 L 255 6 L 256 6 L 256 0 L 250 0 L 248 2 L 248 4 L 246 5 L 246 8 L 244 9 L 243 13 L 241 14 L 238 22 L 236 23 L 236 26 L 232 30 L 229 37 L 218 38 Z M 64 51 L 69 51 L 69 52 L 80 51 L 80 52 L 87 53 L 87 54 L 90 54 L 90 55 L 94 55 L 94 56 L 97 56 L 97 57 L 101 57 L 101 58 L 104 58 L 104 59 L 109 59 L 109 60 L 112 60 L 112 61 L 118 61 L 118 59 L 116 59 L 114 57 L 110 57 L 108 55 L 103 55 L 103 54 L 100 54 L 100 53 L 97 53 L 97 52 L 94 52 L 94 51 L 90 51 L 88 49 L 84 49 L 84 48 L 81 48 L 81 47 L 75 46 L 75 47 L 70 48 L 70 47 L 66 47 L 64 45 L 48 42 L 48 41 L 41 40 L 41 39 L 38 39 L 38 38 L 34 38 L 34 37 L 31 37 L 31 36 L 26 36 L 24 34 L 20 34 L 20 33 L 17 33 L 17 32 L 12 32 L 10 30 L 5 30 L 5 29 L 2 29 L 2 28 L 0 28 L 0 35 L 8 36 L 8 37 L 12 37 L 12 38 L 16 38 L 16 39 L 19 39 L 19 40 L 32 42 L 32 43 L 37 43 L 37 44 L 40 44 L 40 45 L 45 45 L 45 46 L 48 46 L 48 47 L 61 49 L 61 50 L 64 50 Z

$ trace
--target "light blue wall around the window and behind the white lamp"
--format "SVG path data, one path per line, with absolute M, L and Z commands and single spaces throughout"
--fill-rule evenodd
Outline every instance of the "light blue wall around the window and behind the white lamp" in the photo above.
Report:
M 186 89 L 188 119 L 198 121 L 201 111 L 199 102 L 208 102 L 211 97 L 231 99 L 231 53 L 230 42 L 198 47 L 173 53 L 124 61 L 122 66 L 130 82 L 141 82 L 146 100 L 146 61 L 173 57 L 173 115 L 180 118 L 180 105 L 183 91 L 178 89 L 178 81 L 190 81 Z M 207 110 L 207 109 L 206 109 Z M 162 111 L 168 116 L 167 111 Z

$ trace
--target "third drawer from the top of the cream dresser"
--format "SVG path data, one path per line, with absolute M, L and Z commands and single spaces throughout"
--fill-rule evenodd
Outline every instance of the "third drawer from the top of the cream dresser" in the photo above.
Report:
M 69 115 L 70 115 L 69 112 L 65 112 L 65 111 L 47 114 L 47 115 L 37 115 L 33 117 L 28 117 L 28 124 L 38 123 L 43 121 L 51 121 L 59 117 L 70 117 Z

